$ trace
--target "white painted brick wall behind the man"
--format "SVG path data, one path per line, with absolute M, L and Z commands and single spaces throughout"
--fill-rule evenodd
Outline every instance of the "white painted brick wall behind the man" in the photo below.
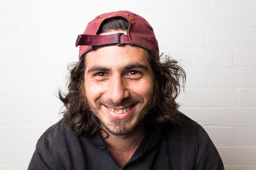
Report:
M 227 170 L 256 169 L 256 1 L 0 1 L 0 169 L 25 170 L 57 122 L 75 40 L 96 15 L 130 10 L 181 61 L 180 110 L 206 129 Z

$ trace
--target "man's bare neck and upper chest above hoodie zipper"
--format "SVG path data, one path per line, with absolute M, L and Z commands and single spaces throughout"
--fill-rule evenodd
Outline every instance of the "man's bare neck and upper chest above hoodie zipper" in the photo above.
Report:
M 108 137 L 106 137 L 106 132 L 108 133 Z M 118 163 L 118 166 L 123 168 L 123 166 L 130 160 L 135 150 L 138 148 L 145 135 L 145 132 L 144 124 L 140 124 L 134 132 L 128 135 L 116 136 L 110 134 L 108 131 L 102 131 L 101 136 L 103 141 L 108 146 L 111 155 Z

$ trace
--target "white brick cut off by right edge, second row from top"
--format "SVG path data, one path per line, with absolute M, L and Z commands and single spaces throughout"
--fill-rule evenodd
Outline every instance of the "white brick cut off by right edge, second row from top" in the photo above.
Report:
M 237 26 L 238 27 L 256 27 L 255 20 L 256 20 L 255 7 L 237 9 Z

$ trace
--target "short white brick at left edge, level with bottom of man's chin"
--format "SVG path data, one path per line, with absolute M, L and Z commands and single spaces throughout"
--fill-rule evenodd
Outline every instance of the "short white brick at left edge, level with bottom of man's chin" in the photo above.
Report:
M 19 127 L 0 127 L 0 144 L 21 144 Z

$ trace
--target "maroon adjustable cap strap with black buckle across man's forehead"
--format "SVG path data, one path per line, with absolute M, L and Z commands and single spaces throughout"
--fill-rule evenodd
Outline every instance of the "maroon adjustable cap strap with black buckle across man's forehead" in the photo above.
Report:
M 85 35 L 80 34 L 76 40 L 75 46 L 102 46 L 107 44 L 130 44 L 128 35 L 110 34 L 110 35 Z

